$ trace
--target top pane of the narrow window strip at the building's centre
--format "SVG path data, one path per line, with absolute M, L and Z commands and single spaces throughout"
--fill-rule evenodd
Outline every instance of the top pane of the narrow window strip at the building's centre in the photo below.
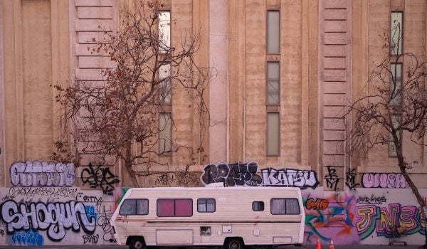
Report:
M 280 53 L 279 11 L 267 11 L 267 53 Z

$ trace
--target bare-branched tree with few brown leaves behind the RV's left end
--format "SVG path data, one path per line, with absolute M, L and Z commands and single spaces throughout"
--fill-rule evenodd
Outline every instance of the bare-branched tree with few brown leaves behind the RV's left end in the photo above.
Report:
M 194 62 L 200 46 L 197 33 L 182 33 L 181 46 L 170 46 L 172 20 L 162 16 L 161 7 L 157 1 L 133 1 L 122 10 L 117 33 L 105 32 L 107 38 L 102 41 L 93 38 L 97 44 L 88 50 L 109 55 L 115 65 L 102 70 L 103 81 L 76 80 L 66 88 L 56 85 L 65 142 L 56 142 L 55 157 L 67 152 L 63 149 L 65 144 L 70 146 L 66 137 L 73 137 L 75 154 L 97 154 L 102 159 L 113 155 L 124 162 L 133 186 L 139 186 L 136 165 L 160 164 L 159 155 L 179 149 L 188 149 L 189 158 L 203 152 L 201 145 L 184 147 L 162 136 L 174 127 L 169 105 L 174 89 L 196 105 L 203 127 L 207 70 Z

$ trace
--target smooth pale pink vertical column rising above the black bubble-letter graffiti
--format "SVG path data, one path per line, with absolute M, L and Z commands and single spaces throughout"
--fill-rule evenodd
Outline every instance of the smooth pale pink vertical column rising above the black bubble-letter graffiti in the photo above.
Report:
M 209 1 L 209 67 L 216 75 L 209 88 L 211 164 L 228 161 L 228 1 Z

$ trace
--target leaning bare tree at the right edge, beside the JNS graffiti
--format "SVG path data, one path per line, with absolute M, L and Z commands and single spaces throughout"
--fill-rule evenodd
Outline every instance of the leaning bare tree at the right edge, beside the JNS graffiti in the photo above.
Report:
M 384 58 L 371 72 L 361 97 L 347 108 L 345 116 L 352 118 L 347 127 L 347 150 L 352 156 L 366 156 L 369 149 L 388 145 L 389 154 L 396 157 L 400 172 L 425 218 L 426 202 L 407 171 L 417 162 L 405 157 L 403 137 L 411 137 L 414 144 L 426 146 L 427 64 L 413 53 L 402 53 L 400 24 L 395 22 L 391 31 L 380 35 L 384 40 Z M 405 68 L 401 64 L 403 58 Z

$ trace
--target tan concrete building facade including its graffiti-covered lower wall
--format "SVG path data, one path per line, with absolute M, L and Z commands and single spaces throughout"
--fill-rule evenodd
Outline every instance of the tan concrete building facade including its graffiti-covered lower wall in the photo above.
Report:
M 128 2 L 0 2 L 0 244 L 110 243 L 107 221 L 129 176 L 120 163 L 92 166 L 90 154 L 76 168 L 50 162 L 60 137 L 52 85 L 102 81 L 102 68 L 114 65 L 88 47 L 118 30 Z M 159 158 L 167 166 L 141 166 L 142 186 L 299 186 L 305 243 L 387 244 L 393 226 L 406 228 L 409 244 L 423 243 L 426 222 L 396 157 L 385 144 L 350 158 L 344 138 L 352 120 L 342 115 L 383 58 L 379 35 L 391 13 L 403 16 L 404 51 L 426 59 L 425 0 L 161 2 L 172 16 L 172 46 L 183 33 L 200 32 L 196 63 L 214 68 L 205 96 L 210 118 L 202 129 L 193 101 L 174 90 L 172 137 L 204 149 L 195 159 L 176 152 Z M 427 148 L 410 141 L 404 134 L 404 154 L 416 161 L 408 172 L 427 196 Z M 64 233 L 36 227 L 17 208 L 31 212 L 36 203 L 82 208 L 88 221 L 68 229 L 65 213 L 60 221 L 50 213 L 49 227 L 60 224 Z M 6 218 L 9 210 L 24 218 Z

